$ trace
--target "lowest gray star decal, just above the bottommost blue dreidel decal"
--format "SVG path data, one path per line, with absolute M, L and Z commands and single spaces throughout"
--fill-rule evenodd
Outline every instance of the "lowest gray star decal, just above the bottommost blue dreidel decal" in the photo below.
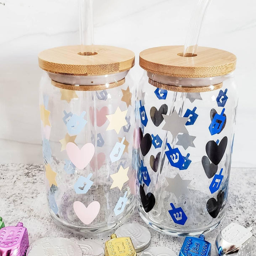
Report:
M 191 180 L 182 180 L 179 174 L 177 174 L 174 178 L 165 178 L 168 182 L 166 191 L 174 193 L 177 198 L 179 198 L 182 194 L 190 193 L 187 187 L 190 184 Z

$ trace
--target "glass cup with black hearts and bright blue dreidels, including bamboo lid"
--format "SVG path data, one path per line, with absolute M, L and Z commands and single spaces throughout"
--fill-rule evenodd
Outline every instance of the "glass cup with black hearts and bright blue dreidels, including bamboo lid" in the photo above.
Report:
M 183 46 L 140 53 L 136 98 L 137 199 L 143 220 L 166 234 L 199 235 L 225 214 L 238 95 L 236 57 Z

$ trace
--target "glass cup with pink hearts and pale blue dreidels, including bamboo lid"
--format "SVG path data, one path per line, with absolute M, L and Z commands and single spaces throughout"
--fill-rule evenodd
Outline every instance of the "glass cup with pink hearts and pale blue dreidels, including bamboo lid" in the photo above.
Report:
M 92 47 L 87 47 L 91 49 Z M 43 160 L 49 213 L 79 233 L 120 225 L 135 206 L 135 86 L 130 50 L 48 49 L 40 84 Z M 84 46 L 86 49 L 86 46 Z

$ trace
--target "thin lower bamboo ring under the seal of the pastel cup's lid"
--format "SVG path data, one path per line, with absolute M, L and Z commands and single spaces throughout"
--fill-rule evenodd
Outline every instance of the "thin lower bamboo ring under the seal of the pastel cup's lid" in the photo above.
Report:
M 112 83 L 107 83 L 103 85 L 69 85 L 69 84 L 62 84 L 60 82 L 56 82 L 52 80 L 52 85 L 61 89 L 65 90 L 71 90 L 71 91 L 100 91 L 100 90 L 106 90 L 106 89 L 111 89 L 117 86 L 120 86 L 124 84 L 125 78 L 123 78 L 120 81 L 117 82 L 112 82 Z

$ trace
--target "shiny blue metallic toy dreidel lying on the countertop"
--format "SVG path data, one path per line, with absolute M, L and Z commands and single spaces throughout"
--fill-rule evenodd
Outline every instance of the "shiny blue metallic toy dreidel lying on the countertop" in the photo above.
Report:
M 204 235 L 199 235 L 199 238 L 187 236 L 179 256 L 210 256 L 211 247 L 212 245 L 205 241 Z

